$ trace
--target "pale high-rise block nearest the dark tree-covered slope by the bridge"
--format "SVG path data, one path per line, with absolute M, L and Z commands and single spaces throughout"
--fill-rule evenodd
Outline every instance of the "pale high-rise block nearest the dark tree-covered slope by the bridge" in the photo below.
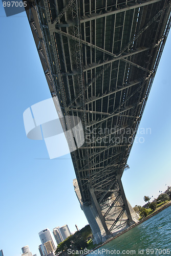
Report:
M 62 227 L 55 227 L 53 229 L 53 234 L 57 244 L 61 243 L 62 241 L 66 240 L 69 236 L 71 236 L 71 232 L 68 225 L 64 225 Z

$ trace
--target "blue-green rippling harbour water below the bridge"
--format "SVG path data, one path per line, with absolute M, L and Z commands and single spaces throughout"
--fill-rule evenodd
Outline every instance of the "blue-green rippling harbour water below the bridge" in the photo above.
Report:
M 171 255 L 171 206 L 89 255 Z

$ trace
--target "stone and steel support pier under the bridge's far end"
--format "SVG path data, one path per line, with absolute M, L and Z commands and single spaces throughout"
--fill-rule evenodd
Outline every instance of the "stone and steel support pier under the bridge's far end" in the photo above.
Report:
M 90 224 L 94 236 L 93 242 L 96 244 L 104 242 L 111 236 L 115 236 L 116 233 L 138 221 L 134 209 L 125 197 L 121 177 L 116 176 L 115 180 L 113 188 L 109 186 L 109 191 L 107 191 L 110 193 L 109 196 L 106 194 L 106 190 L 104 190 L 106 197 L 100 203 L 97 201 L 97 191 L 94 187 L 89 187 L 91 203 L 82 202 L 77 180 L 73 181 L 75 193 L 81 209 Z

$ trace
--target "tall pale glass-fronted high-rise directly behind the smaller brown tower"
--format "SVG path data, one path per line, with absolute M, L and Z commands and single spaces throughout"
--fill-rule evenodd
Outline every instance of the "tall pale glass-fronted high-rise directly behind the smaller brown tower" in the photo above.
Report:
M 49 230 L 49 228 L 46 228 L 46 229 L 42 230 L 41 232 L 39 232 L 38 235 L 39 235 L 42 247 L 44 249 L 44 254 L 45 255 L 49 255 L 48 250 L 47 250 L 47 248 L 45 246 L 46 242 L 51 241 L 53 250 L 56 249 L 55 243 L 54 243 L 53 238 L 52 238 L 51 231 Z

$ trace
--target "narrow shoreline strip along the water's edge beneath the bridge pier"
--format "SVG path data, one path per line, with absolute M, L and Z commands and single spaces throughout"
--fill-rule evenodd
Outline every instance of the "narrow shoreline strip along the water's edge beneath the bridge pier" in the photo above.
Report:
M 91 251 L 95 251 L 95 250 L 98 249 L 99 247 L 101 247 L 101 246 L 103 246 L 103 245 L 105 245 L 105 244 L 111 242 L 112 240 L 114 240 L 114 239 L 120 237 L 122 234 L 124 234 L 124 233 L 126 233 L 127 231 L 131 230 L 132 228 L 138 226 L 139 224 L 143 223 L 144 221 L 146 221 L 146 220 L 152 218 L 153 216 L 157 215 L 159 212 L 161 212 L 162 210 L 166 209 L 166 208 L 169 207 L 169 206 L 171 206 L 171 201 L 170 201 L 168 204 L 163 205 L 163 207 L 161 207 L 161 208 L 158 209 L 157 211 L 153 212 L 153 214 L 147 216 L 146 218 L 144 218 L 143 220 L 139 221 L 138 223 L 135 223 L 134 225 L 130 226 L 129 228 L 127 228 L 127 229 L 121 231 L 121 232 L 118 233 L 115 237 L 109 238 L 109 239 L 106 240 L 104 243 L 102 243 L 102 244 L 96 246 L 95 248 L 91 249 Z M 83 254 L 83 255 L 87 255 L 87 254 L 88 254 L 88 253 Z M 83 255 L 82 255 L 82 256 L 83 256 Z

